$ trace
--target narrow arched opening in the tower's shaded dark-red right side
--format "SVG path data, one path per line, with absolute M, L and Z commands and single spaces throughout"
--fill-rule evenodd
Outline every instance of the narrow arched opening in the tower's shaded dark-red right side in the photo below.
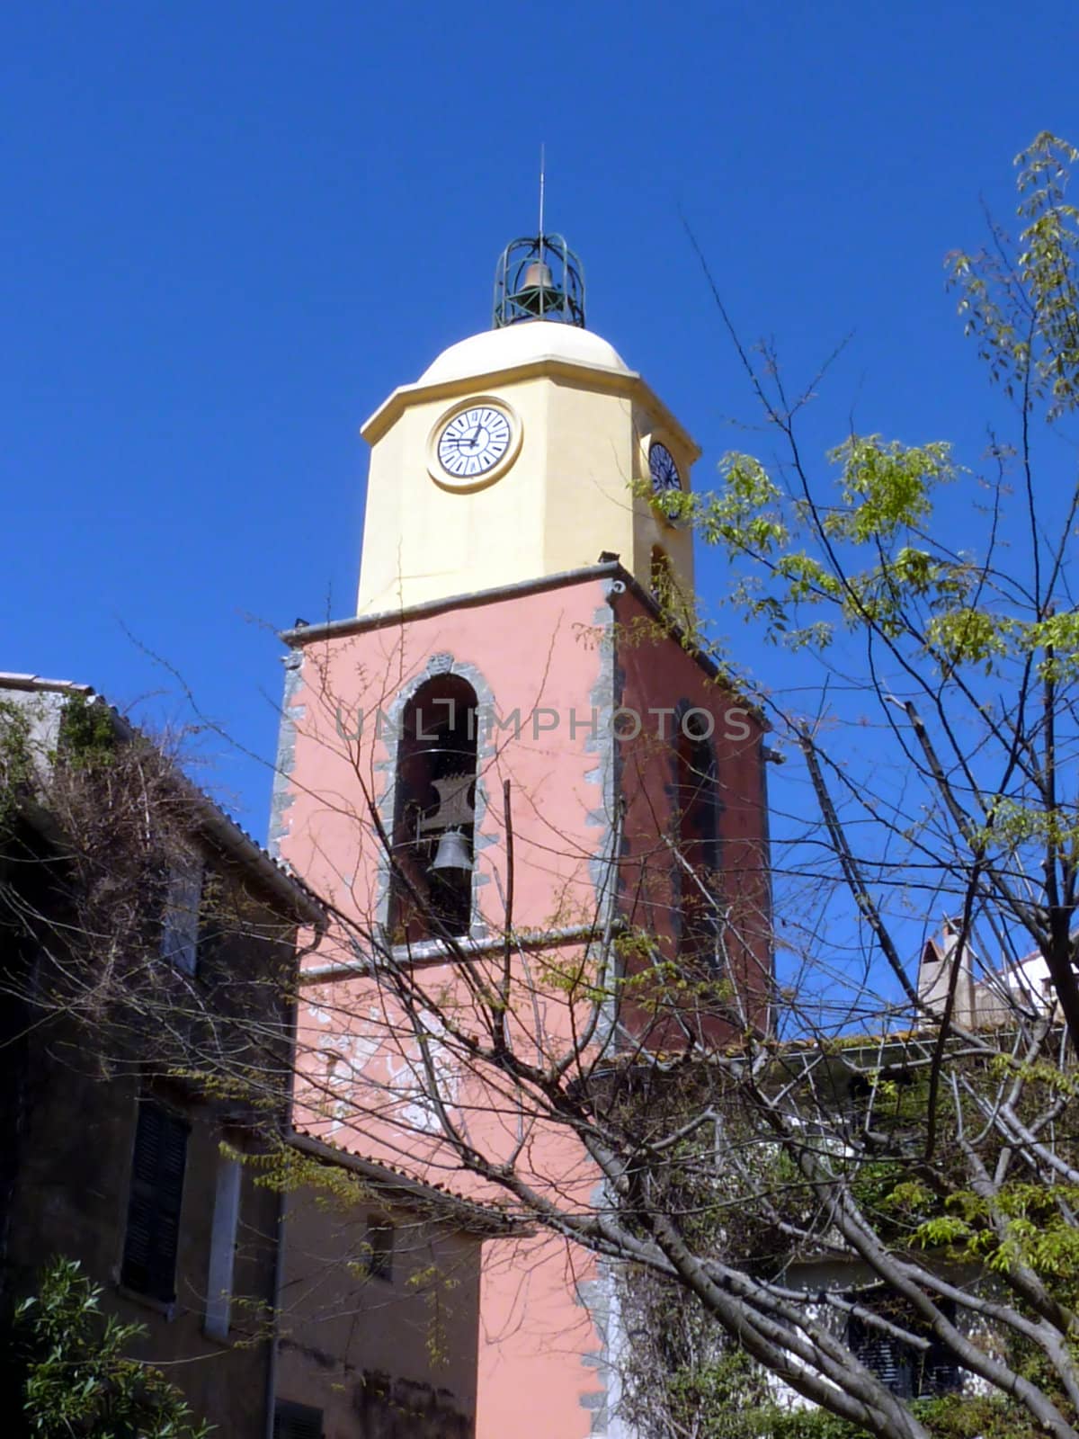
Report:
M 709 717 L 691 711 L 679 724 L 676 751 L 676 822 L 679 853 L 680 932 L 679 955 L 704 963 L 718 973 L 719 915 L 719 804 L 715 754 L 706 737 Z

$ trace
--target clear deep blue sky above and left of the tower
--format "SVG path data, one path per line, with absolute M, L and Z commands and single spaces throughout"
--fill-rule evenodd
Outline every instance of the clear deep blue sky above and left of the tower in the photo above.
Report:
M 352 610 L 357 427 L 488 325 L 541 141 L 590 327 L 698 484 L 754 412 L 679 207 L 794 383 L 853 331 L 821 449 L 853 416 L 973 459 L 991 400 L 942 258 L 983 199 L 1011 219 L 1036 131 L 1079 141 L 1078 53 L 1075 0 L 6 6 L 0 668 L 183 718 L 134 636 L 272 755 L 275 629 Z M 268 773 L 206 751 L 262 833 Z

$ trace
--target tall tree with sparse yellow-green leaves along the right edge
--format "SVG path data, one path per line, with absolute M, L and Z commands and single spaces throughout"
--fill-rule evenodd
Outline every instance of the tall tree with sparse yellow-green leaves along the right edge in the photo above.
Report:
M 916 1327 L 903 1321 L 908 1335 L 922 1328 L 944 1341 L 1019 1400 L 1026 1423 L 1062 1433 L 1076 1420 L 1076 1157 L 1066 1117 L 1079 1039 L 1079 616 L 1069 573 L 1079 492 L 1069 466 L 1053 463 L 1053 436 L 1076 407 L 1079 212 L 1066 200 L 1076 158 L 1039 135 L 1017 158 L 1019 245 L 993 226 L 988 253 L 950 259 L 967 332 L 1011 401 L 1016 429 L 1013 440 L 993 437 L 993 473 L 977 479 L 981 537 L 967 528 L 960 545 L 941 524 L 942 486 L 974 482 L 947 445 L 852 435 L 829 456 L 839 492 L 823 486 L 800 445 L 804 397 L 788 400 L 774 355 L 758 368 L 741 345 L 786 463 L 770 472 L 728 455 L 718 495 L 678 502 L 739 568 L 735 603 L 765 637 L 809 650 L 826 682 L 853 678 L 875 709 L 869 757 L 852 744 L 842 709 L 793 715 L 761 696 L 801 758 L 823 827 L 790 845 L 780 912 L 793 927 L 797 876 L 803 934 L 827 931 L 829 1003 L 807 1013 L 817 966 L 803 944 L 810 963 L 788 1033 L 807 1045 L 803 1082 L 829 1068 L 830 1033 L 844 1027 L 878 1030 L 880 1058 L 915 1082 L 891 1144 L 869 1118 L 852 1134 L 832 1094 L 807 1104 L 803 1092 L 787 1114 L 762 1097 L 778 1153 L 892 1304 L 902 1298 L 916 1317 Z M 889 760 L 893 786 L 882 784 Z M 810 875 L 824 884 L 816 899 Z M 950 917 L 952 944 L 927 1013 L 908 937 L 921 947 L 934 912 Z M 978 954 L 987 968 L 971 991 Z M 896 1022 L 912 1020 L 921 1039 L 888 1040 Z M 878 1109 L 896 1102 L 886 1072 L 866 1076 Z M 807 1121 L 842 1135 L 842 1163 L 806 1144 Z M 774 1206 L 786 1226 L 788 1199 Z M 942 1279 L 941 1263 L 911 1263 L 911 1243 L 939 1261 L 985 1265 L 990 1307 L 980 1311 L 965 1286 Z M 1010 1337 L 1013 1356 L 1027 1351 L 1013 1357 L 1011 1377 L 1007 1363 L 994 1367 L 1000 1356 L 978 1367 L 987 1356 L 964 1351 L 957 1315 L 973 1322 L 978 1311 Z M 1020 1422 L 1013 1413 L 1007 1432 Z

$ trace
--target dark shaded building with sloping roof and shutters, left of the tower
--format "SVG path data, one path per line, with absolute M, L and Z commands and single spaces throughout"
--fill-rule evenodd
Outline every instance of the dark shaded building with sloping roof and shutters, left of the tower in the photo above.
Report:
M 245 1158 L 285 1124 L 321 907 L 86 686 L 0 676 L 0 721 L 6 1353 L 76 1259 L 199 1417 L 266 1439 L 281 1196 Z

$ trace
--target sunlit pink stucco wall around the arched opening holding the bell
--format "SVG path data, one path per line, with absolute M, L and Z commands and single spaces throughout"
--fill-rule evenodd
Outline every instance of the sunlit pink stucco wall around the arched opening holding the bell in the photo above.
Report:
M 432 656 L 449 655 L 457 672 L 486 681 L 501 717 L 515 709 L 534 717 L 519 738 L 511 730 L 492 731 L 496 753 L 483 773 L 488 812 L 482 832 L 495 855 L 502 833 L 502 781 L 512 781 L 518 921 L 542 924 L 560 905 L 587 905 L 587 859 L 603 830 L 603 820 L 593 814 L 600 793 L 588 778 L 597 757 L 587 751 L 583 728 L 575 737 L 570 734 L 568 718 L 554 731 L 544 727 L 554 722 L 552 714 L 568 717 L 583 709 L 587 717 L 600 669 L 594 627 L 601 607 L 603 591 L 594 583 L 305 646 L 302 682 L 291 705 L 293 715 L 302 714 L 282 858 L 342 908 L 373 911 L 380 845 L 365 810 L 386 793 L 388 774 L 380 766 L 388 761 L 390 745 L 375 737 L 371 715 L 378 708 L 388 714 L 424 678 Z M 365 724 L 360 740 L 342 737 L 338 717 L 340 728 L 351 735 L 361 711 Z M 498 863 L 481 853 L 483 881 L 493 878 Z M 481 888 L 481 912 L 491 911 L 498 925 L 493 886 Z

